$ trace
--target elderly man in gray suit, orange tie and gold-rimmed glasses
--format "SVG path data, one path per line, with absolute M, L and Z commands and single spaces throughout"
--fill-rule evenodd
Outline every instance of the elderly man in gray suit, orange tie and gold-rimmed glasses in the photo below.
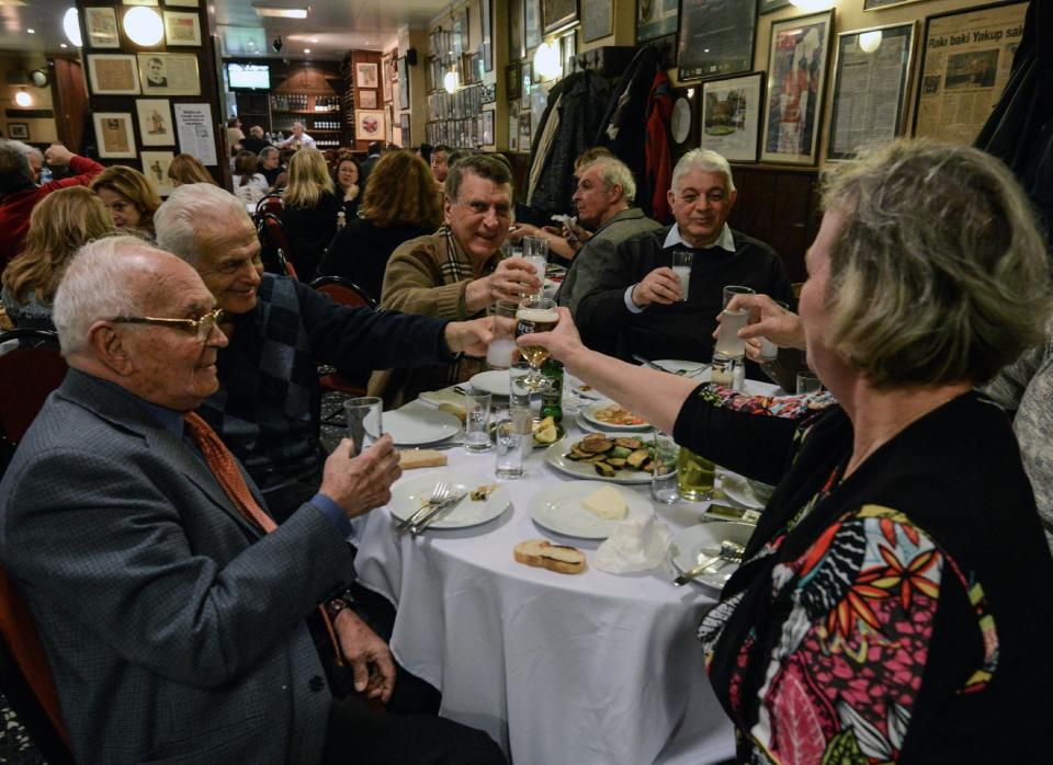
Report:
M 502 762 L 477 731 L 372 716 L 328 688 L 307 620 L 321 605 L 332 650 L 358 639 L 330 598 L 353 578 L 350 518 L 399 475 L 388 437 L 353 459 L 343 441 L 318 493 L 275 527 L 188 414 L 216 390 L 227 343 L 194 269 L 101 240 L 70 265 L 54 317 L 71 370 L 0 483 L 0 562 L 77 762 Z M 366 694 L 386 697 L 390 680 L 374 665 Z

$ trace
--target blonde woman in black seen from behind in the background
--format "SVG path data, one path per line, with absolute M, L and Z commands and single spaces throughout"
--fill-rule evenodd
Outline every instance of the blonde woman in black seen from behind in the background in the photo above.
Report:
M 288 186 L 282 197 L 282 224 L 288 249 L 285 253 L 304 282 L 318 270 L 322 253 L 337 232 L 337 197 L 326 158 L 318 149 L 303 148 L 288 161 Z

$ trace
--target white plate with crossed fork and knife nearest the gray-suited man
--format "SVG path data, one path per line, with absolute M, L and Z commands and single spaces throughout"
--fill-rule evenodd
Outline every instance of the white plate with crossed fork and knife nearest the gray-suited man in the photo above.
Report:
M 414 476 L 396 483 L 395 488 L 392 489 L 392 501 L 387 504 L 387 512 L 393 517 L 405 521 L 420 510 L 422 502 L 431 499 L 431 492 L 434 491 L 439 481 L 450 481 L 453 491 L 457 493 L 469 493 L 465 494 L 464 499 L 453 506 L 453 510 L 445 511 L 442 519 L 437 521 L 429 528 L 477 526 L 487 521 L 492 521 L 512 503 L 508 489 L 503 486 L 499 486 L 485 502 L 473 502 L 471 492 L 484 483 L 499 483 L 494 479 L 494 476 L 486 472 L 476 473 L 444 469 L 432 470 L 422 476 Z

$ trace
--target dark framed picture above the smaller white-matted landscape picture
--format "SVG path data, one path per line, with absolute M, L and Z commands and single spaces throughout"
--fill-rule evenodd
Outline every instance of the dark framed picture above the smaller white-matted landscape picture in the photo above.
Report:
M 757 5 L 741 0 L 683 0 L 679 79 L 727 77 L 754 68 Z

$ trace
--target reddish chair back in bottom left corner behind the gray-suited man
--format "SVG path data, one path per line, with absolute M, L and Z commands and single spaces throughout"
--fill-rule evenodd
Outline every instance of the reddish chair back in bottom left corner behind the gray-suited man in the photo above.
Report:
M 53 765 L 72 763 L 69 732 L 33 616 L 0 569 L 0 687 L 33 743 Z

